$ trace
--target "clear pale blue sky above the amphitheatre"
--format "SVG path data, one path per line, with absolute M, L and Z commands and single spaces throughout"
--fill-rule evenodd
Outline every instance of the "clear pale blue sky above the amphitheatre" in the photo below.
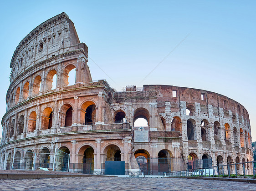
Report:
M 15 48 L 64 11 L 108 74 L 89 59 L 93 80 L 106 79 L 116 90 L 164 84 L 226 95 L 246 107 L 256 141 L 255 0 L 2 0 L 0 10 L 1 118 Z

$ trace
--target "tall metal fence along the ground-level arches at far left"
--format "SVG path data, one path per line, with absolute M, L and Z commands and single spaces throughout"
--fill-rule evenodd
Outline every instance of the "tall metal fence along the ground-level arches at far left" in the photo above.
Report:
M 70 155 L 59 149 L 15 148 L 12 161 L 6 164 L 7 170 L 36 170 L 47 168 L 51 171 L 69 171 Z

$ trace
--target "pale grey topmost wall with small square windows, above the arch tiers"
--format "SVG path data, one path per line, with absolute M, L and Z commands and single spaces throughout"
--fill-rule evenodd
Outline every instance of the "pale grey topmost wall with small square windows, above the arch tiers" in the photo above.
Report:
M 46 20 L 17 46 L 10 63 L 10 82 L 31 66 L 70 51 L 79 43 L 74 24 L 64 12 Z

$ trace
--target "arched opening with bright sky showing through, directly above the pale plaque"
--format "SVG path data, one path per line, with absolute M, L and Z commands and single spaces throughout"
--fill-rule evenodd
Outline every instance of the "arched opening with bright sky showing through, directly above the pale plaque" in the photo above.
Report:
M 147 127 L 149 126 L 149 112 L 145 108 L 138 108 L 134 111 L 133 115 L 134 127 Z

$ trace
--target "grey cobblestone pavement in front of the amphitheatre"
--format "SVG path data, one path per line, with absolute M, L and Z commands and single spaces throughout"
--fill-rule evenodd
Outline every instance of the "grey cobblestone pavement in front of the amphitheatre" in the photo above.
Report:
M 234 181 L 210 181 L 165 178 L 75 177 L 31 180 L 0 180 L 4 191 L 170 191 L 170 190 L 233 190 L 255 191 L 256 184 Z

